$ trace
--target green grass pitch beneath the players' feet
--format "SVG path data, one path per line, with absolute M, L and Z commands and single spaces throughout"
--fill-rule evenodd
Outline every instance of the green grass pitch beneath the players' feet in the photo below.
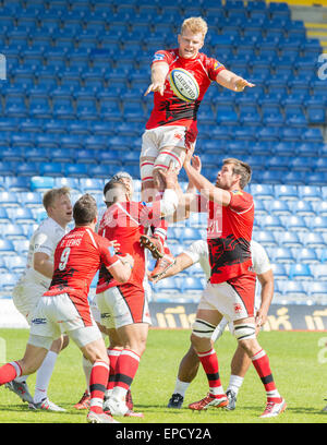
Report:
M 1 351 L 8 361 L 22 358 L 28 338 L 26 329 L 0 329 Z M 286 398 L 288 409 L 277 418 L 263 420 L 258 416 L 265 407 L 264 387 L 253 366 L 249 370 L 240 390 L 237 409 L 226 411 L 210 409 L 192 412 L 187 404 L 203 398 L 207 393 L 205 374 L 201 369 L 189 387 L 184 408 L 167 408 L 173 390 L 180 359 L 187 350 L 190 332 L 183 329 L 150 329 L 147 350 L 144 353 L 136 378 L 132 385 L 135 410 L 144 412 L 144 419 L 120 419 L 122 423 L 327 423 L 327 333 L 319 332 L 263 332 L 261 345 L 268 352 L 277 387 Z M 325 341 L 325 340 L 326 341 Z M 322 346 L 323 345 L 323 346 Z M 220 364 L 223 387 L 229 381 L 230 360 L 235 340 L 227 332 L 215 345 Z M 28 378 L 34 389 L 35 374 Z M 13 393 L 0 388 L 0 423 L 85 423 L 86 411 L 77 411 L 73 405 L 85 389 L 82 357 L 70 342 L 56 363 L 50 382 L 49 397 L 66 409 L 64 413 L 31 411 Z

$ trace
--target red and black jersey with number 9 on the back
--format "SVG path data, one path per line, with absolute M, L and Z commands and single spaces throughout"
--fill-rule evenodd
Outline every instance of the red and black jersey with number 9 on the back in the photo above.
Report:
M 100 265 L 110 268 L 117 261 L 112 243 L 88 227 L 75 228 L 57 245 L 55 273 L 45 296 L 69 293 L 74 301 L 88 304 L 89 286 Z

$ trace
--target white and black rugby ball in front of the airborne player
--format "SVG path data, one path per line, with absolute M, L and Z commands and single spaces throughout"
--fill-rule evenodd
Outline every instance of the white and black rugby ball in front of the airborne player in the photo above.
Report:
M 169 83 L 174 95 L 185 101 L 194 101 L 198 97 L 198 84 L 189 71 L 175 68 L 169 73 Z

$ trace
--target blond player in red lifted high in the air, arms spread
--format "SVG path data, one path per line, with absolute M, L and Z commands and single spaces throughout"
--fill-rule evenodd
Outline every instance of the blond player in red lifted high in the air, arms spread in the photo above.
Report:
M 172 161 L 180 170 L 185 153 L 196 142 L 196 115 L 201 101 L 211 82 L 217 82 L 234 92 L 245 86 L 254 86 L 246 80 L 227 70 L 218 60 L 199 52 L 207 34 L 207 24 L 202 17 L 186 19 L 178 36 L 179 47 L 159 50 L 152 63 L 152 83 L 145 95 L 154 92 L 154 108 L 146 123 L 142 139 L 140 159 L 143 200 L 160 199 L 164 184 L 159 170 L 167 169 Z M 198 83 L 199 96 L 193 103 L 178 98 L 168 81 L 168 74 L 175 68 L 182 68 L 193 74 Z M 154 236 L 143 237 L 143 243 L 159 258 L 152 276 L 158 277 L 174 260 L 165 244 L 167 222 L 153 229 Z

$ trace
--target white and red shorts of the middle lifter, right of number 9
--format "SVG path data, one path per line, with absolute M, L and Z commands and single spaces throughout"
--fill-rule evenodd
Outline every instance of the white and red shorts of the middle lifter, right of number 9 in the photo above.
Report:
M 108 329 L 135 324 L 152 324 L 147 296 L 141 289 L 130 286 L 112 287 L 97 293 L 97 305 L 101 314 L 101 325 Z

